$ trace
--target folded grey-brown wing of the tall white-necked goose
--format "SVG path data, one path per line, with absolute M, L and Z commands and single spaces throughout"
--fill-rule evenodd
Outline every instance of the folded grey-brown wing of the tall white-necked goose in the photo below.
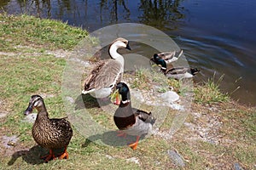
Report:
M 121 79 L 122 65 L 114 60 L 107 59 L 100 62 L 90 72 L 89 77 L 84 81 L 84 90 L 108 88 Z

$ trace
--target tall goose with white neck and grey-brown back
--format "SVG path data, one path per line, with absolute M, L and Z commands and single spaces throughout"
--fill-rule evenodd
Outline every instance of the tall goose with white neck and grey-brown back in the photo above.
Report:
M 113 59 L 105 59 L 97 63 L 84 80 L 82 94 L 91 94 L 97 99 L 102 99 L 113 92 L 113 88 L 123 76 L 125 64 L 123 56 L 117 52 L 118 48 L 131 50 L 129 42 L 125 38 L 119 37 L 114 40 L 108 49 L 108 53 Z

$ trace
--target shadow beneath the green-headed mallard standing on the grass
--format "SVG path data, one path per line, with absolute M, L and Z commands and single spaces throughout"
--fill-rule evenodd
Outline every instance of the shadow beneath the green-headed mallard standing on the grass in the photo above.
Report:
M 82 144 L 83 147 L 88 146 L 90 142 L 94 142 L 96 144 L 106 144 L 109 146 L 125 146 L 127 144 L 132 144 L 136 141 L 136 136 L 126 135 L 124 136 L 117 136 L 119 131 L 108 131 L 102 134 L 92 135 L 87 138 Z M 141 139 L 144 139 L 145 135 L 143 135 Z

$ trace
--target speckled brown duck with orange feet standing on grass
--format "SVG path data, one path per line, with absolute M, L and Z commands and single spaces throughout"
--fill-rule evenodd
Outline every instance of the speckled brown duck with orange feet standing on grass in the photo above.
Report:
M 42 147 L 49 149 L 49 155 L 44 156 L 44 161 L 55 159 L 53 150 L 65 148 L 59 159 L 68 159 L 67 145 L 73 136 L 73 129 L 65 118 L 49 119 L 48 112 L 44 105 L 44 99 L 39 95 L 32 95 L 24 115 L 38 110 L 38 116 L 32 127 L 33 139 Z

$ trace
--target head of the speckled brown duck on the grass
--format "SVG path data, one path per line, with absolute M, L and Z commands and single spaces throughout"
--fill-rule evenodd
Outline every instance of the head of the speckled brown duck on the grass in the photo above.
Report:
M 32 113 L 34 108 L 36 108 L 38 111 L 44 108 L 44 99 L 39 95 L 31 96 L 28 107 L 26 108 L 26 111 L 24 111 L 24 115 Z

